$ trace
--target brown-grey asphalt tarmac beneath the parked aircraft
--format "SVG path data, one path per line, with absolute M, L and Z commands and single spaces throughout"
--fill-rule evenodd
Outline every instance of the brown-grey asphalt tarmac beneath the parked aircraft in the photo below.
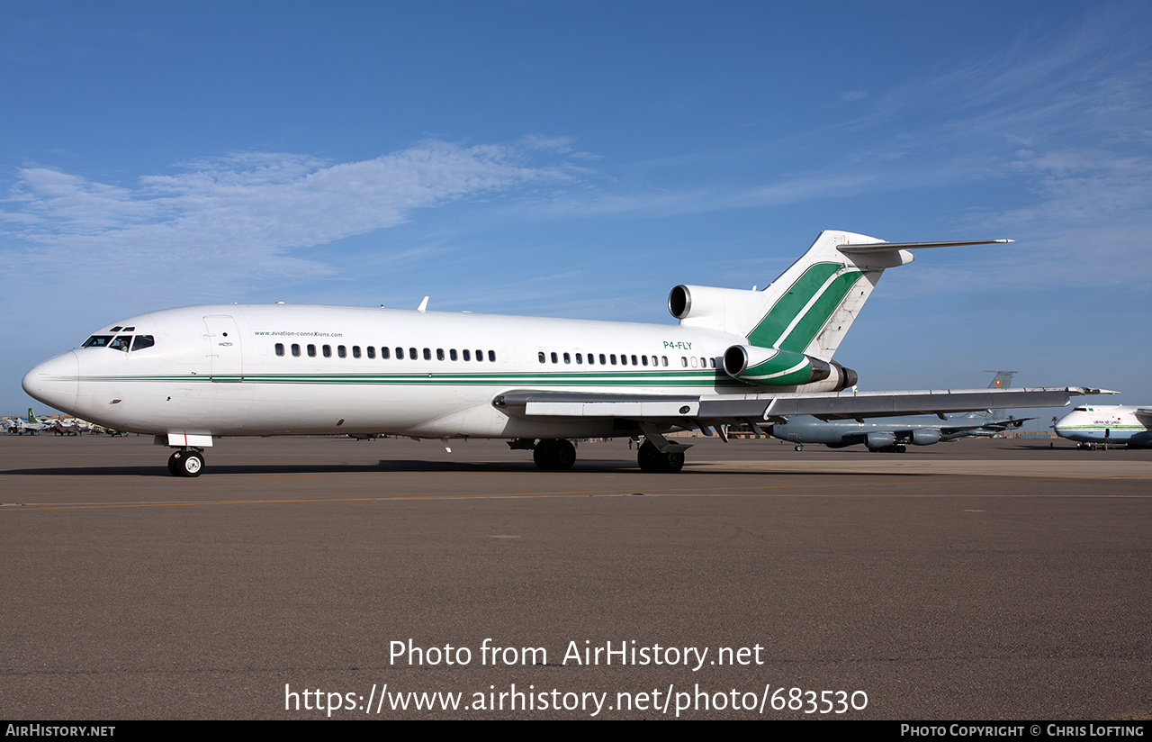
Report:
M 1150 717 L 1152 452 L 694 442 L 0 437 L 0 718 Z

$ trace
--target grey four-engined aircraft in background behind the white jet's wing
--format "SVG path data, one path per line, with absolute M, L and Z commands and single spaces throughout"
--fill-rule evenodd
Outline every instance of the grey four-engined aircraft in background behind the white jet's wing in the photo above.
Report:
M 999 371 L 990 389 L 1011 386 L 1015 371 Z M 941 440 L 958 440 L 969 437 L 994 436 L 1011 427 L 1020 427 L 1031 417 L 1001 419 L 1005 410 L 980 410 L 957 417 L 939 419 L 919 417 L 877 417 L 874 419 L 820 419 L 801 415 L 782 423 L 767 425 L 773 438 L 796 444 L 796 450 L 804 450 L 804 444 L 824 444 L 828 448 L 844 448 L 864 444 L 869 450 L 904 453 L 905 446 L 931 446 Z

